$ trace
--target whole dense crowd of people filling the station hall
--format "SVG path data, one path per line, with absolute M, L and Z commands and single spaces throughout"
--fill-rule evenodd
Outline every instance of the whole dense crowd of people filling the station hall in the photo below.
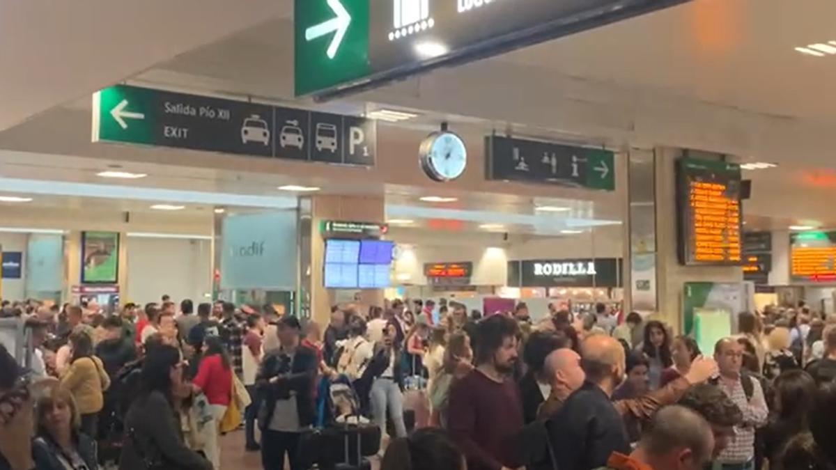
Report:
M 711 351 L 604 304 L 533 321 L 395 299 L 327 325 L 167 296 L 2 312 L 31 349 L 0 346 L 0 470 L 217 469 L 239 427 L 267 470 L 836 465 L 836 317 L 803 304 L 737 315 Z

